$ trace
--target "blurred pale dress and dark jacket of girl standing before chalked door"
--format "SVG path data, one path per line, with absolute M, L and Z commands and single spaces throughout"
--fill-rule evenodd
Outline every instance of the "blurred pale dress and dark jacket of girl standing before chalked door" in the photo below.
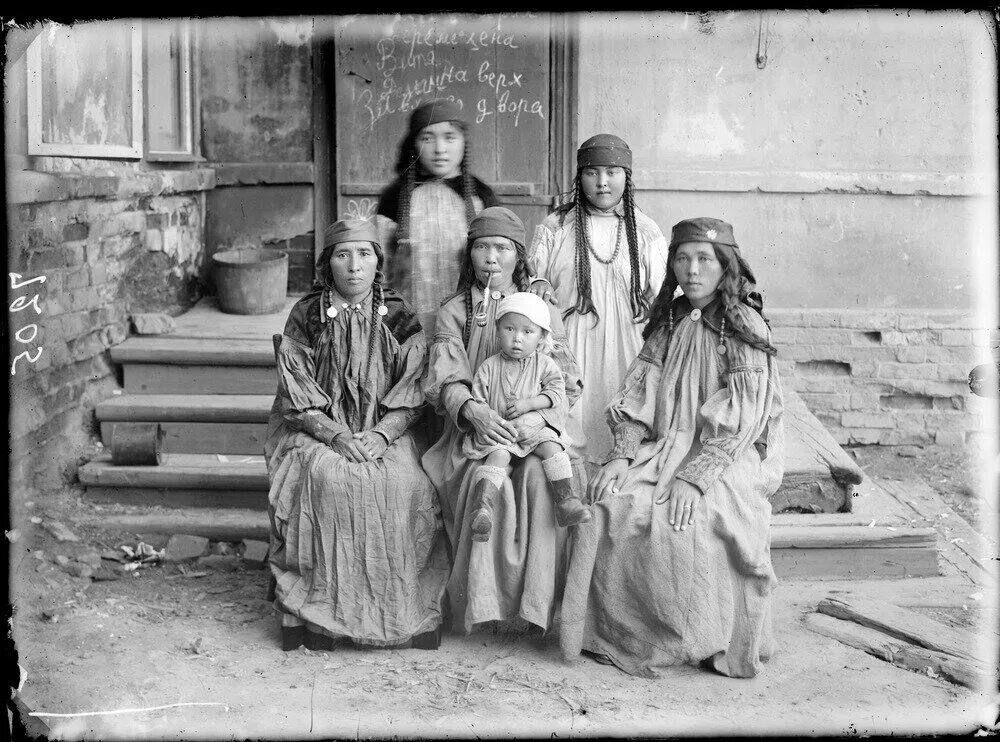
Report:
M 458 285 L 468 241 L 468 216 L 462 195 L 462 177 L 418 178 L 410 194 L 409 238 L 396 240 L 402 183 L 396 181 L 379 198 L 380 237 L 386 247 L 388 284 L 399 291 L 416 312 L 428 337 L 441 302 Z M 496 205 L 488 185 L 473 178 L 473 211 Z

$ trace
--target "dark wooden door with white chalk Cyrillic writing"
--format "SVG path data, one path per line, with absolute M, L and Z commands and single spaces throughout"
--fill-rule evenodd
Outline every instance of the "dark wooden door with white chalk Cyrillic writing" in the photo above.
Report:
M 524 220 L 530 240 L 569 183 L 564 23 L 547 13 L 338 19 L 338 218 L 375 213 L 379 192 L 395 176 L 410 113 L 450 98 L 471 126 L 473 173 Z M 572 151 L 571 137 L 568 146 Z

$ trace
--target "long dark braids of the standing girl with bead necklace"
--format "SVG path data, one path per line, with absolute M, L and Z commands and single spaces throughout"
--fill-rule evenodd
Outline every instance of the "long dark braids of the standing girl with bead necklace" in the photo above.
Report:
M 628 241 L 628 259 L 630 272 L 629 299 L 632 306 L 632 319 L 636 322 L 644 322 L 649 312 L 649 300 L 642 287 L 641 273 L 639 269 L 639 230 L 635 221 L 635 185 L 632 182 L 632 171 L 625 170 L 625 191 L 622 194 L 622 206 L 625 219 L 625 236 Z M 563 319 L 573 312 L 580 315 L 593 314 L 599 319 L 597 308 L 594 306 L 594 299 L 591 290 L 590 280 L 590 248 L 589 229 L 587 227 L 586 196 L 583 193 L 583 181 L 581 170 L 577 169 L 576 177 L 573 180 L 572 198 L 556 208 L 556 213 L 560 214 L 559 226 L 566 222 L 566 217 L 570 211 L 576 208 L 575 231 L 576 231 L 576 252 L 574 253 L 574 273 L 576 276 L 576 304 L 565 312 Z M 615 246 L 617 247 L 617 245 Z

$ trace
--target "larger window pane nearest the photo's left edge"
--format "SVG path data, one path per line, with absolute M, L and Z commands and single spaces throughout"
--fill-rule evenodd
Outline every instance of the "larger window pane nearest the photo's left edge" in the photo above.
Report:
M 52 25 L 39 41 L 42 142 L 131 145 L 131 26 Z

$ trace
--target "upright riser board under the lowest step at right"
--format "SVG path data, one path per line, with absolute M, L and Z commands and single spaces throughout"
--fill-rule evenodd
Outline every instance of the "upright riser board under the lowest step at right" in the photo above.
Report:
M 937 553 L 924 547 L 772 549 L 771 564 L 783 580 L 901 580 L 940 574 Z

